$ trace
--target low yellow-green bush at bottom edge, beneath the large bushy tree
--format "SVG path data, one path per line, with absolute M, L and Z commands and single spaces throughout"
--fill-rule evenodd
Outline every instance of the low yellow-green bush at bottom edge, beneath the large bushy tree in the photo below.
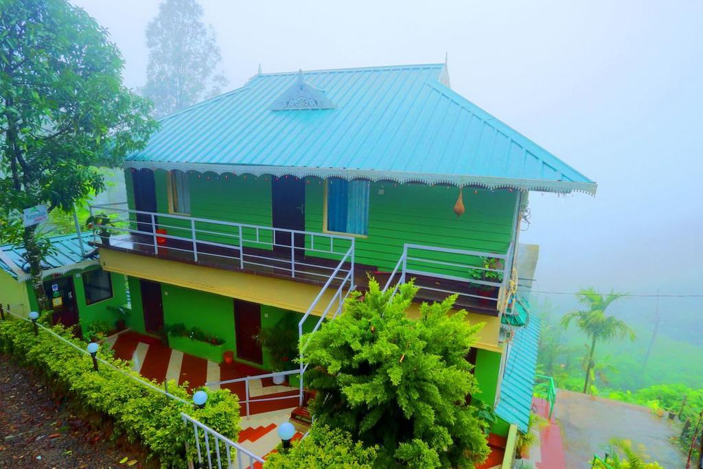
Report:
M 279 449 L 280 451 L 280 449 Z M 314 424 L 304 439 L 293 442 L 287 453 L 273 453 L 265 469 L 364 468 L 373 467 L 376 447 L 365 448 L 352 435 Z

